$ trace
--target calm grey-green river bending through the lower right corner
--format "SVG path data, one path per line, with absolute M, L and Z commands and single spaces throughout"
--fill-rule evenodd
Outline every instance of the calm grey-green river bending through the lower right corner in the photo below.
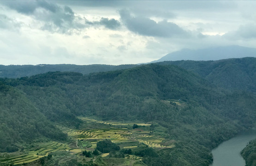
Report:
M 222 142 L 212 150 L 214 156 L 211 166 L 245 166 L 240 155 L 246 144 L 256 138 L 256 130 L 241 132 L 230 140 Z

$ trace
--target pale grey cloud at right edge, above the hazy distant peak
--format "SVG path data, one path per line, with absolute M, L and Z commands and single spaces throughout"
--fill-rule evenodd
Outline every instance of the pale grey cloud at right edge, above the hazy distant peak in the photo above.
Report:
M 223 37 L 230 40 L 256 39 L 256 24 L 240 25 L 238 30 L 228 32 Z

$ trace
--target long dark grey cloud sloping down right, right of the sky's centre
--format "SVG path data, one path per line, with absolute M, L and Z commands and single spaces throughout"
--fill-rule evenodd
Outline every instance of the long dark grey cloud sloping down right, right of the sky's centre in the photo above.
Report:
M 132 17 L 127 10 L 119 11 L 121 20 L 132 32 L 143 36 L 156 37 L 187 37 L 189 33 L 180 28 L 177 24 L 163 20 L 155 22 L 149 18 Z

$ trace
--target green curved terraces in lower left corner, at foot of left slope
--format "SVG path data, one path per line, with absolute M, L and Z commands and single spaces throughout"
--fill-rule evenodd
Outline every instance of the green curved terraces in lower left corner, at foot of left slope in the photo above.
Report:
M 0 166 L 9 164 L 30 163 L 47 156 L 51 152 L 64 151 L 70 149 L 68 145 L 58 142 L 34 143 L 33 147 L 24 151 L 24 153 L 5 153 L 0 156 Z

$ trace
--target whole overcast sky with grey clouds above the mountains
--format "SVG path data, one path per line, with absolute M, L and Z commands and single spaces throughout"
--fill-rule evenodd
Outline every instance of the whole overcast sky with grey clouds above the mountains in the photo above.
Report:
M 253 0 L 0 0 L 0 65 L 138 64 L 181 49 L 256 48 Z

